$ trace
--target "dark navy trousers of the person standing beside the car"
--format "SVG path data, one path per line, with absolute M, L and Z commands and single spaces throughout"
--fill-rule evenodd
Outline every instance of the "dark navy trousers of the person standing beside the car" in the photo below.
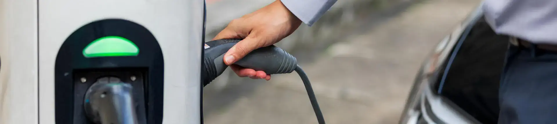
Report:
M 557 52 L 510 45 L 501 75 L 499 123 L 557 123 Z

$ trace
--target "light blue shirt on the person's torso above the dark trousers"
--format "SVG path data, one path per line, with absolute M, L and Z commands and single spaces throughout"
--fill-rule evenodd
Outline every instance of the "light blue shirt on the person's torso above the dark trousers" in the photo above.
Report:
M 557 44 L 557 0 L 485 0 L 482 8 L 498 34 Z

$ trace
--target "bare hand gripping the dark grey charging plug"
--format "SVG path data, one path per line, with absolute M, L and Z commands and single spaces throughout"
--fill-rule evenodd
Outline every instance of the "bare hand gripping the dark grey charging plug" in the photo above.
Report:
M 240 77 L 270 80 L 271 75 L 263 71 L 233 64 L 251 51 L 275 44 L 292 34 L 301 23 L 300 19 L 294 16 L 280 0 L 277 0 L 253 13 L 232 20 L 213 40 L 243 39 L 224 54 L 224 64 L 229 65 Z

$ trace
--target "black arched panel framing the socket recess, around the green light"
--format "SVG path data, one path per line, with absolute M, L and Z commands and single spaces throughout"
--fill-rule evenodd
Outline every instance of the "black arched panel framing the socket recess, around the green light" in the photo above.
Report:
M 119 36 L 131 40 L 139 48 L 137 56 L 85 58 L 85 46 L 98 38 Z M 46 43 L 46 42 L 44 42 Z M 146 96 L 146 120 L 149 124 L 162 123 L 164 58 L 157 39 L 145 27 L 124 19 L 103 19 L 83 25 L 61 45 L 55 64 L 56 123 L 74 123 L 74 74 L 80 70 L 141 68 L 149 85 Z M 81 72 L 83 73 L 83 72 Z M 79 80 L 78 80 L 79 81 Z M 81 118 L 77 118 L 81 119 Z

